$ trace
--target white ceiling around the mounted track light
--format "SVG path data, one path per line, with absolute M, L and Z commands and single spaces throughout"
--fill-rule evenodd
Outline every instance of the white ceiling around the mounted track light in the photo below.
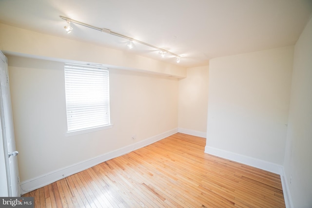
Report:
M 71 23 L 107 28 L 182 56 L 178 65 L 293 45 L 311 18 L 312 0 L 0 0 L 0 22 L 93 42 L 177 64 L 173 56 Z

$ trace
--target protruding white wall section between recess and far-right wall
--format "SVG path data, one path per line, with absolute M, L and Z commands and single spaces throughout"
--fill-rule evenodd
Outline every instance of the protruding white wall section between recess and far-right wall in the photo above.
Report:
M 292 59 L 290 46 L 210 60 L 207 153 L 283 164 Z

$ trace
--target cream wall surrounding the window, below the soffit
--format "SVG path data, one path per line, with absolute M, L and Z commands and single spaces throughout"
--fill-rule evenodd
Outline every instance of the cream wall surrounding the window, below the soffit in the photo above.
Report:
M 21 181 L 177 129 L 176 78 L 110 69 L 113 128 L 66 137 L 63 63 L 8 56 L 8 65 Z

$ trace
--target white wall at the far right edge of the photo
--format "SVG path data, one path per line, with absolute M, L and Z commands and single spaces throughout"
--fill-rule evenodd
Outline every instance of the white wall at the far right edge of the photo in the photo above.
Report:
M 312 19 L 294 47 L 284 161 L 294 208 L 312 207 Z M 290 183 L 292 179 L 292 183 Z

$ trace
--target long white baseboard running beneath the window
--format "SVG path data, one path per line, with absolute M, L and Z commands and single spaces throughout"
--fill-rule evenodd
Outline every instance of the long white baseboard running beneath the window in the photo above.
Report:
M 135 144 L 126 146 L 124 148 L 120 148 L 116 151 L 111 151 L 111 152 L 99 155 L 97 157 L 91 158 L 89 160 L 85 160 L 85 161 L 79 162 L 77 164 L 67 166 L 65 168 L 54 170 L 54 171 L 48 172 L 46 174 L 40 175 L 38 177 L 29 179 L 26 181 L 22 181 L 20 183 L 21 194 L 27 193 L 27 192 L 35 190 L 35 189 L 39 189 L 43 186 L 46 186 L 46 185 L 51 184 L 53 182 L 56 182 L 56 181 L 58 181 L 64 177 L 69 176 L 69 175 L 75 174 L 75 173 L 80 172 L 82 170 L 86 170 L 88 168 L 91 168 L 91 167 L 98 165 L 102 162 L 105 162 L 107 160 L 113 159 L 115 157 L 127 154 L 131 151 L 135 151 L 139 148 L 153 144 L 156 141 L 164 139 L 164 138 L 171 136 L 175 133 L 177 133 L 177 129 L 173 129 L 173 130 L 170 130 L 168 132 L 163 132 L 163 133 L 158 134 L 156 136 L 153 136 L 151 138 L 139 141 Z

